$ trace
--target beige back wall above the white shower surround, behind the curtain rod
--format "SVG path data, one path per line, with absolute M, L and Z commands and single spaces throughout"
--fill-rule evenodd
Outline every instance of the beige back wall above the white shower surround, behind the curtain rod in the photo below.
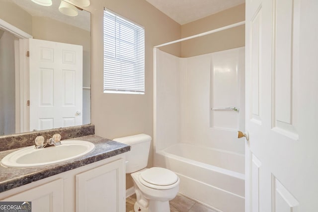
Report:
M 229 8 L 181 26 L 182 38 L 245 20 L 245 4 Z M 245 26 L 183 41 L 181 56 L 191 57 L 245 46 Z

